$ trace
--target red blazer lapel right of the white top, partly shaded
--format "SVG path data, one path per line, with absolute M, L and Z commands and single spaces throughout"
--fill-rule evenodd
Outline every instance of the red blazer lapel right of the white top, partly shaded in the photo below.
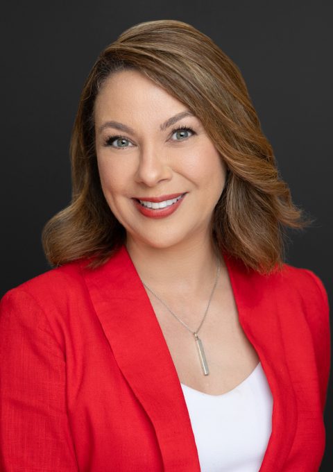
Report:
M 280 319 L 283 317 L 278 273 L 262 276 L 224 256 L 228 267 L 239 322 L 259 355 L 273 395 L 272 433 L 260 472 L 283 470 L 296 434 L 297 407 Z

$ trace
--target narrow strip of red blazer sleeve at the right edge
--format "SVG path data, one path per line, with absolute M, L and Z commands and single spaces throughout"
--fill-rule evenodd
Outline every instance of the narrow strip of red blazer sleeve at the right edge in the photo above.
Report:
M 330 377 L 330 307 L 325 287 L 318 276 L 312 271 L 304 269 L 311 278 L 312 296 L 307 321 L 314 340 L 316 362 L 321 389 L 321 406 L 325 409 L 327 385 Z

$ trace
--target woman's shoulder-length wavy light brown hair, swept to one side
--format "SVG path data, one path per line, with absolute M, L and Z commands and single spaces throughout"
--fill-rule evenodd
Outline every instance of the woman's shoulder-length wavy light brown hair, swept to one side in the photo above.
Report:
M 136 69 L 184 103 L 225 162 L 225 188 L 212 224 L 217 247 L 261 273 L 282 267 L 286 228 L 302 228 L 307 221 L 278 174 L 239 69 L 210 37 L 173 20 L 129 28 L 92 67 L 71 135 L 71 203 L 42 234 L 49 262 L 88 259 L 89 267 L 98 267 L 126 240 L 101 189 L 94 132 L 101 86 L 110 74 L 126 69 Z

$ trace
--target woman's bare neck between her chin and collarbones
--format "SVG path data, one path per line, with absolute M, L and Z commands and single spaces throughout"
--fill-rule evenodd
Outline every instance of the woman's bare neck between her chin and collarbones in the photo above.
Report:
M 193 296 L 216 275 L 218 256 L 210 238 L 155 248 L 128 237 L 126 246 L 139 277 L 160 293 Z

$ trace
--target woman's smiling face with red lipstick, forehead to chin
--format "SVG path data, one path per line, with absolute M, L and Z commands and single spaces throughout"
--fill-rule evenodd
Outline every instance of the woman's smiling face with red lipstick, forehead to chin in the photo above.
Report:
M 94 118 L 103 193 L 127 238 L 167 248 L 210 237 L 225 165 L 200 120 L 133 70 L 105 81 Z

